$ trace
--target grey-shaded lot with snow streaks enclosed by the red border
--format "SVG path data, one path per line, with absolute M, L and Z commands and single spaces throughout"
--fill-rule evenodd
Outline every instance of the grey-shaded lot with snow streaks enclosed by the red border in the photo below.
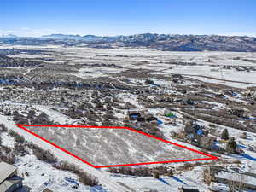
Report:
M 125 129 L 33 126 L 26 126 L 26 129 L 94 166 L 207 158 L 205 155 Z

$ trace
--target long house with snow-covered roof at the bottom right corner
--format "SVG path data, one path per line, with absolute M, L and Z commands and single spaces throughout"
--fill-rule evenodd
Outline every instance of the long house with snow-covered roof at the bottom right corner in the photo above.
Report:
M 208 166 L 204 179 L 207 183 L 232 183 L 235 189 L 256 190 L 256 174 L 251 172 L 235 172 L 221 166 Z

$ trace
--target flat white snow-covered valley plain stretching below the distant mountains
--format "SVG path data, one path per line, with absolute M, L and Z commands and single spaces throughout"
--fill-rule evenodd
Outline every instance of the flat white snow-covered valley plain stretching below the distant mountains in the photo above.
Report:
M 1 48 L 6 49 L 10 47 L 2 45 L 0 46 Z M 69 65 L 83 65 L 83 67 L 79 67 L 78 73 L 73 73 L 74 76 L 82 79 L 108 77 L 108 73 L 118 73 L 125 76 L 125 70 L 140 68 L 151 70 L 154 74 L 163 74 L 166 76 L 172 73 L 192 75 L 190 77 L 201 81 L 225 84 L 238 88 L 246 88 L 256 84 L 255 53 L 211 51 L 172 52 L 152 49 L 92 49 L 17 45 L 12 48 L 52 51 L 49 55 L 20 54 L 9 56 L 35 58 L 36 60 L 40 57 L 44 59 L 53 58 L 54 61 L 49 61 L 53 64 L 67 63 Z M 105 65 L 114 64 L 116 67 L 93 66 L 102 63 Z M 231 68 L 221 69 L 224 66 Z M 236 67 L 246 67 L 247 69 L 236 70 Z

